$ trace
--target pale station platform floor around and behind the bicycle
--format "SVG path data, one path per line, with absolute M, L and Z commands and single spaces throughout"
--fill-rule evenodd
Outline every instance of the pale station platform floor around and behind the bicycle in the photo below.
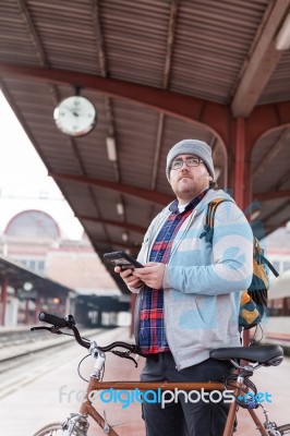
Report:
M 114 340 L 132 342 L 129 338 L 129 328 L 121 327 L 112 330 L 104 330 L 95 338 L 99 346 L 106 346 Z M 57 421 L 63 421 L 70 412 L 80 408 L 82 395 L 86 389 L 86 383 L 77 375 L 77 365 L 87 351 L 72 341 L 70 347 L 65 346 L 53 350 L 50 348 L 39 359 L 33 359 L 21 367 L 15 368 L 10 377 L 14 377 L 14 389 L 1 396 L 0 386 L 0 434 L 5 436 L 32 436 L 41 426 Z M 140 372 L 144 365 L 141 359 L 135 368 L 133 362 L 121 360 L 108 354 L 106 361 L 106 373 L 104 380 L 138 380 Z M 84 360 L 81 365 L 81 374 L 87 378 L 93 368 L 90 358 Z M 277 367 L 262 367 L 256 372 L 253 382 L 259 392 L 269 392 L 271 403 L 265 404 L 271 421 L 279 425 L 290 422 L 290 360 L 286 358 Z M 114 429 L 120 436 L 145 436 L 145 426 L 141 417 L 141 404 L 131 403 L 124 408 L 122 403 L 110 402 L 104 404 L 99 399 L 94 402 L 99 412 L 106 410 L 109 424 L 119 424 Z M 258 412 L 258 415 L 261 413 Z M 262 420 L 264 422 L 264 420 Z M 92 422 L 88 431 L 89 436 L 104 434 L 99 427 Z M 237 436 L 258 435 L 255 426 L 245 419 L 245 411 L 241 410 L 238 415 Z M 177 435 L 180 436 L 180 435 Z M 207 436 L 207 435 L 203 435 Z

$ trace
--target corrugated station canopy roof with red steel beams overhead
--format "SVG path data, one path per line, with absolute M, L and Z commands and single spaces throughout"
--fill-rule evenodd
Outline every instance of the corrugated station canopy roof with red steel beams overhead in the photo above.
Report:
M 290 219 L 290 51 L 280 37 L 289 8 L 289 0 L 1 1 L 0 87 L 100 258 L 136 255 L 172 198 L 165 164 L 176 142 L 206 141 L 219 186 L 234 187 L 237 120 L 266 234 Z M 94 102 L 97 124 L 70 137 L 52 113 L 77 92 Z

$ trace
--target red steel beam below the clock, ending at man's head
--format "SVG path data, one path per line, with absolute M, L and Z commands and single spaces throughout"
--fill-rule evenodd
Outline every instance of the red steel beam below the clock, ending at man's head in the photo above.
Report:
M 140 186 L 111 182 L 102 179 L 94 179 L 84 175 L 63 174 L 58 172 L 49 172 L 48 174 L 56 180 L 67 180 L 69 182 L 82 183 L 89 186 L 100 186 L 107 190 L 121 192 L 123 194 L 132 195 L 134 197 L 146 199 L 148 202 L 153 202 L 164 206 L 168 205 L 168 203 L 174 199 L 173 195 L 156 192 L 153 190 L 146 190 Z

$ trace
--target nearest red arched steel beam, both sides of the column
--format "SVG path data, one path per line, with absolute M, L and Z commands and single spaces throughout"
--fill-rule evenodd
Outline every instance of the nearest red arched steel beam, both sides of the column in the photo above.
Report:
M 219 135 L 227 146 L 230 144 L 229 125 L 232 116 L 227 105 L 76 71 L 0 63 L 0 76 L 86 87 L 101 95 L 130 100 L 188 122 L 201 123 Z M 245 121 L 247 149 L 252 150 L 261 136 L 281 126 L 290 126 L 290 101 L 255 107 Z

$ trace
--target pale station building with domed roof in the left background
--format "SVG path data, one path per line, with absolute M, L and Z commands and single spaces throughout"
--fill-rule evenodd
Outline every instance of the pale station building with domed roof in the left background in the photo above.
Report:
M 29 209 L 13 216 L 0 238 L 1 325 L 37 320 L 40 311 L 77 313 L 85 325 L 116 325 L 129 299 L 107 272 L 87 237 L 62 237 L 47 213 Z M 126 315 L 125 315 L 126 313 Z

